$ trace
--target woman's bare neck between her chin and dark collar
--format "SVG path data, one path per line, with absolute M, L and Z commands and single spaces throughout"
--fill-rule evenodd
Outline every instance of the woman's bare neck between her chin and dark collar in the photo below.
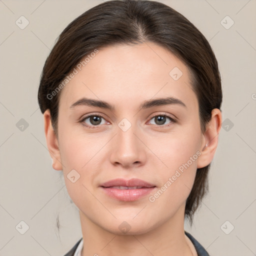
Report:
M 110 232 L 92 222 L 81 211 L 82 256 L 192 256 L 184 234 L 184 212 L 181 207 L 170 219 L 146 232 L 125 234 Z M 160 222 L 160 220 L 159 220 Z

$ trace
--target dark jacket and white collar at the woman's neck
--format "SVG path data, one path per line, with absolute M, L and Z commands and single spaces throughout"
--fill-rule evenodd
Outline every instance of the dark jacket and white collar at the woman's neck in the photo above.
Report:
M 202 247 L 202 245 L 188 232 L 185 231 L 186 237 L 192 242 L 193 247 L 191 248 L 191 243 L 189 247 L 191 248 L 192 252 L 195 249 L 197 256 L 209 256 L 208 252 Z M 64 255 L 64 256 L 81 256 L 81 250 L 83 246 L 82 238 L 79 239 L 75 245 Z

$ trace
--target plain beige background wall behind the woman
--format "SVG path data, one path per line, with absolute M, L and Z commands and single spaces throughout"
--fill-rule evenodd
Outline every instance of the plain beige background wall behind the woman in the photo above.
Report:
M 77 208 L 69 201 L 61 171 L 51 167 L 37 89 L 44 61 L 59 33 L 101 2 L 0 0 L 2 256 L 62 256 L 81 237 Z M 185 223 L 185 230 L 210 255 L 255 255 L 256 0 L 161 2 L 186 16 L 209 40 L 222 77 L 223 121 L 228 118 L 233 123 L 229 130 L 224 125 L 221 128 L 209 173 L 209 193 L 192 228 Z M 24 29 L 15 24 L 21 15 L 29 21 Z M 231 19 L 225 18 L 221 24 L 226 15 L 234 21 L 229 29 L 222 24 L 230 25 Z M 28 124 L 23 131 L 18 123 L 21 118 Z M 24 234 L 19 233 L 25 227 L 21 222 L 22 228 L 18 228 L 21 220 L 29 226 Z M 226 220 L 229 222 L 222 225 Z M 224 233 L 231 225 L 234 229 Z

